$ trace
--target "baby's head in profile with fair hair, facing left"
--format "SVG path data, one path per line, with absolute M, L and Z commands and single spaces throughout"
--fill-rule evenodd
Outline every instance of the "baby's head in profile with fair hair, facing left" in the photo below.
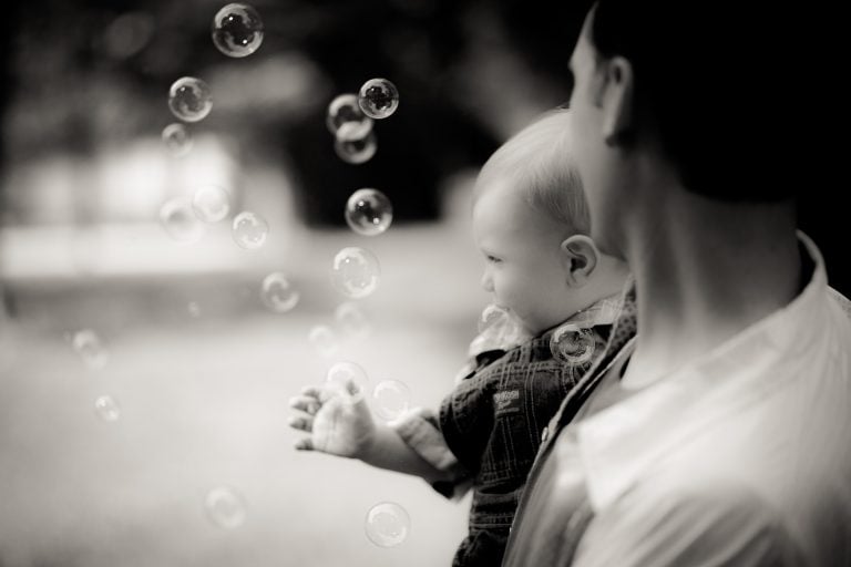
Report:
M 532 334 L 616 293 L 627 275 L 588 236 L 568 120 L 568 111 L 553 111 L 509 140 L 482 167 L 473 195 L 482 287 Z

